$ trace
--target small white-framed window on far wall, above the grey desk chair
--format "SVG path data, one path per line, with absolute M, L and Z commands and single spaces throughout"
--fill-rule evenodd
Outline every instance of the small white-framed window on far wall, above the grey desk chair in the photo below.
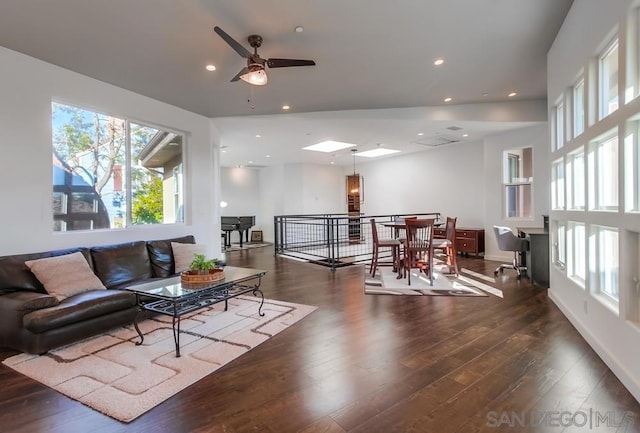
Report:
M 531 218 L 533 149 L 507 150 L 503 155 L 505 217 Z

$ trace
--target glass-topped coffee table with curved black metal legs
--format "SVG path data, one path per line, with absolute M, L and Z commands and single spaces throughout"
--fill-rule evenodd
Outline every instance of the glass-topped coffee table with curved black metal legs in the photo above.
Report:
M 252 293 L 254 296 L 260 295 L 258 314 L 264 316 L 262 312 L 264 294 L 260 290 L 260 283 L 262 276 L 266 273 L 267 271 L 260 269 L 226 266 L 224 279 L 198 285 L 198 288 L 183 285 L 180 276 L 177 276 L 129 286 L 124 290 L 135 293 L 140 311 L 152 311 L 171 316 L 176 357 L 180 357 L 180 318 L 185 314 L 219 302 L 224 302 L 224 310 L 227 311 L 229 299 Z M 140 341 L 136 342 L 139 346 L 144 341 L 144 335 L 138 327 L 138 315 L 133 320 L 133 326 L 140 336 Z

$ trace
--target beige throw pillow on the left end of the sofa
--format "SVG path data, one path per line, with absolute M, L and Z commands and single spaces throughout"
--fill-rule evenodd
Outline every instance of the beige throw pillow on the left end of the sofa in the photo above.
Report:
M 79 252 L 24 263 L 42 283 L 47 293 L 59 301 L 79 293 L 106 289 Z

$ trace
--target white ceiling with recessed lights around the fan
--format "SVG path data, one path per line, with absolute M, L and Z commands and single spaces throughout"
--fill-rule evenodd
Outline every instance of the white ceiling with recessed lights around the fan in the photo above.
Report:
M 0 45 L 194 113 L 221 117 L 215 124 L 227 146 L 225 166 L 249 160 L 254 165 L 348 164 L 349 152 L 318 156 L 299 149 L 332 138 L 354 142 L 359 149 L 382 143 L 413 152 L 426 148 L 411 144 L 420 139 L 418 132 L 464 141 L 539 120 L 443 119 L 433 110 L 545 99 L 546 53 L 571 4 L 1 0 Z M 261 35 L 263 58 L 313 59 L 317 65 L 268 69 L 264 87 L 231 83 L 246 61 L 213 32 L 216 25 L 248 49 L 247 36 Z M 296 26 L 304 31 L 296 32 Z M 436 58 L 443 58 L 444 65 L 434 66 Z M 209 63 L 216 65 L 215 72 L 205 70 Z M 508 98 L 512 91 L 517 96 Z M 445 103 L 445 97 L 453 99 Z M 283 104 L 291 106 L 288 114 L 282 114 Z M 453 132 L 450 126 L 463 129 Z M 463 132 L 470 136 L 462 137 Z

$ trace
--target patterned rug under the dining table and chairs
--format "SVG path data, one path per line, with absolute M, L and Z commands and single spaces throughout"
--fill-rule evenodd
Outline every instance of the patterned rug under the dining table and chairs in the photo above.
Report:
M 494 290 L 484 283 L 460 274 L 448 275 L 442 273 L 436 266 L 433 286 L 429 284 L 427 276 L 411 270 L 411 285 L 407 278 L 397 278 L 391 267 L 378 268 L 375 277 L 369 274 L 369 268 L 365 266 L 364 293 L 367 295 L 414 295 L 414 296 L 488 296 L 485 292 L 493 293 Z

